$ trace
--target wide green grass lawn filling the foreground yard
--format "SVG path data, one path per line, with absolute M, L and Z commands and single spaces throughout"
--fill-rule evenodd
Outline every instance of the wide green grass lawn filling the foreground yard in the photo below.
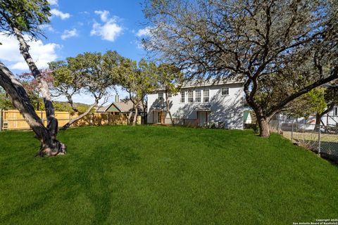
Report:
M 273 134 L 182 127 L 0 133 L 0 224 L 292 224 L 338 217 L 338 167 Z

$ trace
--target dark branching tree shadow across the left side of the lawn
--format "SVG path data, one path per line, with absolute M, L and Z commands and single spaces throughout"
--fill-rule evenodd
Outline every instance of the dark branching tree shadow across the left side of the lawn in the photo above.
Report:
M 101 150 L 93 150 L 92 154 L 86 158 L 74 158 L 77 161 L 75 169 L 65 168 L 65 170 L 62 170 L 64 165 L 52 164 L 49 172 L 60 171 L 61 179 L 50 188 L 44 191 L 37 191 L 35 200 L 32 203 L 20 206 L 10 214 L 4 215 L 1 221 L 6 223 L 13 217 L 20 217 L 20 214 L 27 216 L 27 212 L 37 212 L 37 210 L 46 207 L 47 203 L 53 198 L 61 198 L 61 202 L 63 200 L 75 202 L 79 195 L 84 194 L 94 206 L 92 224 L 104 224 L 111 212 L 113 194 L 113 191 L 109 188 L 113 183 L 106 176 L 106 170 L 111 169 L 110 165 L 114 167 L 132 166 L 141 160 L 132 148 L 123 147 L 113 151 L 115 153 L 112 150 L 108 150 L 108 148 L 101 148 Z M 68 162 L 69 165 L 74 163 Z M 55 208 L 60 207 L 63 208 L 63 205 L 55 206 Z M 54 210 L 50 210 L 51 214 L 53 214 Z

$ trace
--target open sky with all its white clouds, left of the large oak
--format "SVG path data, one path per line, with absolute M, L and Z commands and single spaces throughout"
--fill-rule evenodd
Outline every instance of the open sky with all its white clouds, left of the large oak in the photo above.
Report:
M 49 0 L 51 23 L 43 27 L 46 39 L 30 42 L 32 57 L 39 68 L 79 53 L 118 51 L 121 56 L 139 60 L 146 52 L 139 41 L 146 36 L 142 1 L 137 0 Z M 0 36 L 0 60 L 14 73 L 28 71 L 14 37 Z M 124 96 L 123 91 L 120 95 Z M 111 98 L 113 99 L 113 97 Z M 64 100 L 60 98 L 58 100 Z M 87 95 L 76 102 L 92 103 Z M 112 101 L 112 100 L 111 100 Z

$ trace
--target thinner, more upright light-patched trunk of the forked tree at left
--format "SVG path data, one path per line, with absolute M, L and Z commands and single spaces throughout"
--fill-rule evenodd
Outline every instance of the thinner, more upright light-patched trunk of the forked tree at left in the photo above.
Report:
M 32 72 L 32 75 L 35 77 L 37 82 L 39 83 L 39 89 L 42 94 L 42 98 L 44 98 L 44 108 L 46 110 L 46 117 L 47 117 L 47 129 L 49 130 L 49 134 L 53 136 L 54 139 L 56 139 L 56 135 L 58 133 L 58 121 L 55 117 L 55 110 L 53 103 L 51 102 L 51 94 L 49 91 L 49 86 L 47 82 L 42 77 L 41 72 L 37 68 L 37 65 L 35 65 L 34 60 L 32 59 L 32 56 L 30 56 L 30 46 L 27 44 L 25 39 L 23 38 L 23 34 L 18 30 L 16 27 L 12 27 L 15 37 L 18 39 L 20 44 L 20 53 L 23 55 L 23 58 L 25 59 L 28 67 L 30 68 L 30 71 Z

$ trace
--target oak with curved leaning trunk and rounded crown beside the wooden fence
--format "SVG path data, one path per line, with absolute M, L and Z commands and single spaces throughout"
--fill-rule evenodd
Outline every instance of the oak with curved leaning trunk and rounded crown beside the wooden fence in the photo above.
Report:
M 122 57 L 115 51 L 106 53 L 83 53 L 67 61 L 50 63 L 54 77 L 53 89 L 58 96 L 65 96 L 75 112 L 73 104 L 75 94 L 85 93 L 94 98 L 94 103 L 84 113 L 70 120 L 61 129 L 85 117 L 99 105 L 99 101 L 108 95 L 108 91 L 118 84 L 118 66 Z

